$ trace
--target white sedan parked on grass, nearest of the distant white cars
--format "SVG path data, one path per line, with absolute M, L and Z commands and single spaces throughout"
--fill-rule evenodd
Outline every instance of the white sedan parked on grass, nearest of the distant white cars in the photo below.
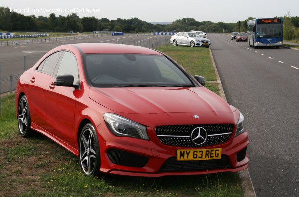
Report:
M 191 47 L 203 46 L 207 48 L 211 45 L 209 39 L 203 38 L 195 32 L 179 32 L 171 36 L 170 43 L 173 44 L 173 46 L 186 45 Z

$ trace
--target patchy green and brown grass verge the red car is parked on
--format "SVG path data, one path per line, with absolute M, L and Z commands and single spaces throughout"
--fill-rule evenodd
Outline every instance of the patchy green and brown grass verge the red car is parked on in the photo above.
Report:
M 216 80 L 209 49 L 170 45 L 159 50 L 192 75 Z M 218 89 L 217 84 L 207 84 Z M 161 178 L 84 176 L 78 159 L 56 143 L 40 134 L 28 139 L 20 137 L 14 96 L 1 100 L 0 196 L 243 197 L 237 173 Z

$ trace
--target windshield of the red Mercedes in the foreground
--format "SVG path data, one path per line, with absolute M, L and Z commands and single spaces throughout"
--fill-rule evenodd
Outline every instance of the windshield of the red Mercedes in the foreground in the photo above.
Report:
M 94 87 L 194 87 L 189 78 L 161 55 L 87 54 L 86 77 Z

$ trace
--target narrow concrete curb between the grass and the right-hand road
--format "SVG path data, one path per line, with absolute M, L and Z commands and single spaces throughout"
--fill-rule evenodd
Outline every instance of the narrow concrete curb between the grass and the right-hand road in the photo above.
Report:
M 218 84 L 218 87 L 219 87 L 220 97 L 227 102 L 225 94 L 224 94 L 223 86 L 222 86 L 222 83 L 221 83 L 221 80 L 220 80 L 220 77 L 219 77 L 219 73 L 217 71 L 217 67 L 216 67 L 216 64 L 215 64 L 215 61 L 214 61 L 214 58 L 213 58 L 211 48 L 209 48 L 209 50 L 210 50 L 210 54 L 211 54 L 212 64 L 213 64 L 215 74 L 216 74 L 216 77 L 217 77 L 217 84 Z M 238 174 L 239 174 L 239 177 L 240 177 L 240 180 L 241 180 L 241 185 L 242 185 L 242 189 L 243 189 L 243 192 L 244 192 L 244 197 L 256 197 L 257 195 L 254 191 L 253 184 L 252 184 L 248 169 L 239 171 Z

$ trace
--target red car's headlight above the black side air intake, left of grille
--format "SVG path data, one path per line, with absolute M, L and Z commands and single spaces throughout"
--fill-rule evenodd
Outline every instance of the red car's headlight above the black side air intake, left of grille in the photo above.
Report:
M 103 116 L 107 127 L 114 135 L 149 140 L 147 127 L 116 114 L 106 113 Z

